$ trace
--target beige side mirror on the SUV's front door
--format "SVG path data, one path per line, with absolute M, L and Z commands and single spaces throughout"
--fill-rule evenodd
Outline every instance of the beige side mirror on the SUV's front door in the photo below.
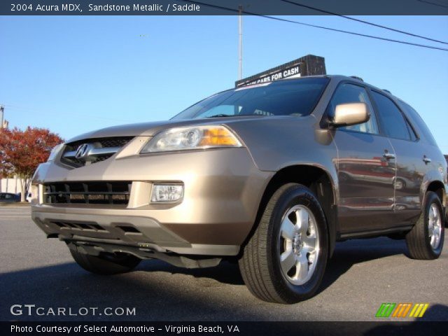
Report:
M 363 124 L 370 119 L 370 111 L 365 103 L 348 103 L 336 105 L 335 115 L 330 116 L 329 124 L 333 127 Z

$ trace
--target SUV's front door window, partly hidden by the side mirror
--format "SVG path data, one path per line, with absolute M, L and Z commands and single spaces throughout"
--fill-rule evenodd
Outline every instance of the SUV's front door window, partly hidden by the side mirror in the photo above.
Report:
M 328 115 L 334 116 L 336 106 L 347 103 L 367 104 L 367 109 L 370 111 L 370 119 L 363 124 L 339 127 L 339 130 L 379 134 L 377 119 L 375 118 L 372 104 L 370 103 L 369 96 L 364 87 L 349 83 L 339 85 L 335 91 L 335 94 L 333 94 L 330 104 L 328 104 Z

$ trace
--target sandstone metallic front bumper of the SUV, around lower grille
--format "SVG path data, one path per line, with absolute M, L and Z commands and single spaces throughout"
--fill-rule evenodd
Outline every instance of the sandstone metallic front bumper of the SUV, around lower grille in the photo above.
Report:
M 261 172 L 246 148 L 153 155 L 114 155 L 72 169 L 57 162 L 38 168 L 32 182 L 34 222 L 48 237 L 159 252 L 237 255 L 248 236 L 272 172 Z M 45 204 L 43 183 L 132 181 L 126 205 Z M 181 202 L 151 204 L 154 182 L 181 182 Z

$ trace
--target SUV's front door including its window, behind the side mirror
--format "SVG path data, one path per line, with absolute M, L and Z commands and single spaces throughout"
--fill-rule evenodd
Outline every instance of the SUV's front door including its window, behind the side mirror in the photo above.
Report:
M 371 117 L 367 123 L 339 127 L 334 132 L 342 235 L 382 230 L 394 222 L 395 152 L 387 137 L 379 135 L 377 117 L 366 88 L 351 82 L 339 84 L 328 109 L 353 102 L 367 104 Z

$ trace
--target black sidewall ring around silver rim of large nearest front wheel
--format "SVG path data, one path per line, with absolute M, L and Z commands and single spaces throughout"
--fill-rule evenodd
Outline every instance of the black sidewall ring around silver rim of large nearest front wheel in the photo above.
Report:
M 307 283 L 298 286 L 290 283 L 288 279 L 286 279 L 286 276 L 283 275 L 279 258 L 279 232 L 281 220 L 286 214 L 286 211 L 295 205 L 303 205 L 312 212 L 316 219 L 319 239 L 319 254 L 316 269 L 314 269 L 314 273 Z M 271 273 L 272 283 L 276 288 L 276 292 L 286 302 L 306 300 L 314 295 L 318 286 L 321 284 L 328 259 L 328 228 L 321 205 L 313 193 L 311 193 L 311 190 L 304 186 L 297 185 L 291 186 L 281 194 L 272 211 L 269 223 L 269 235 L 267 237 L 269 272 Z

